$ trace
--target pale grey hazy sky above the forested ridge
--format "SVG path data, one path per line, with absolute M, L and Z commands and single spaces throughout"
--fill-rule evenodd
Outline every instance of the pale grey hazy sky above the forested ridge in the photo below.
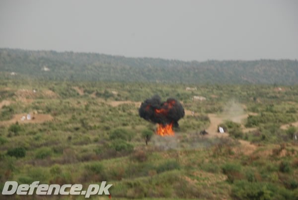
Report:
M 0 0 L 0 48 L 298 59 L 298 0 Z

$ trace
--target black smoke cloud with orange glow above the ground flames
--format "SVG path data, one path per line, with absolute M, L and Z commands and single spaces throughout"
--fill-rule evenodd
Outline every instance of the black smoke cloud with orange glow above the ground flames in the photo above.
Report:
M 141 104 L 139 115 L 152 123 L 163 125 L 173 123 L 174 127 L 178 127 L 178 120 L 184 117 L 184 108 L 174 98 L 161 102 L 160 97 L 155 95 Z

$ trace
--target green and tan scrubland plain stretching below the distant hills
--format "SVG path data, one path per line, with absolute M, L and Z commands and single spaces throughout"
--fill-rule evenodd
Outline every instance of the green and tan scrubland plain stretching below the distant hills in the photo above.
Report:
M 36 123 L 1 116 L 0 190 L 8 180 L 108 181 L 115 199 L 298 197 L 298 87 L 41 79 L 29 84 L 14 78 L 0 79 L 0 85 L 1 98 L 10 101 L 1 113 L 53 117 Z M 35 94 L 20 90 L 32 85 Z M 156 93 L 183 102 L 186 116 L 174 137 L 156 135 L 155 125 L 138 115 L 140 102 Z M 194 95 L 207 100 L 193 101 Z M 225 115 L 231 99 L 241 108 L 241 120 L 233 112 Z M 217 133 L 218 126 L 225 133 Z M 201 135 L 204 129 L 209 134 Z

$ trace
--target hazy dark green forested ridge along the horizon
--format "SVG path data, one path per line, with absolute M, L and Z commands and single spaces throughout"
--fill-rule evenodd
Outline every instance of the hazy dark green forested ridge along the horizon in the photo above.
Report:
M 183 62 L 95 53 L 0 49 L 0 77 L 175 83 L 298 84 L 297 60 Z

